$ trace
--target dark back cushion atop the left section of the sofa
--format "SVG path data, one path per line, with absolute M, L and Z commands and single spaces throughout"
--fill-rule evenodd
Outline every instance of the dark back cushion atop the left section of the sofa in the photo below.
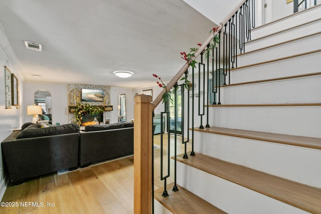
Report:
M 34 125 L 28 126 L 27 128 L 25 128 L 19 133 L 19 135 L 17 136 L 17 139 L 79 132 L 79 126 L 73 123 L 65 124 L 61 126 L 51 126 L 47 128 L 40 128 L 40 127 L 39 127 L 39 124 L 37 123 Z

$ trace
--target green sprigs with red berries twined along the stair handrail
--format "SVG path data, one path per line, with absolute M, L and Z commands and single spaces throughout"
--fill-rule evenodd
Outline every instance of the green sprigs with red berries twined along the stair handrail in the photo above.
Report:
M 210 34 L 213 33 L 215 34 L 216 32 L 220 31 L 221 27 L 217 27 L 217 28 L 213 28 L 211 31 L 210 31 Z M 213 40 L 209 43 L 209 45 L 207 46 L 206 49 L 204 49 L 204 52 L 205 52 L 205 56 L 211 56 L 211 53 L 210 53 L 210 50 L 212 48 L 216 48 L 216 44 L 218 44 L 220 42 L 220 38 L 219 36 L 214 36 L 213 37 Z M 198 43 L 197 44 L 198 46 L 202 46 L 202 44 Z M 182 55 L 182 59 L 186 60 L 187 62 L 189 62 L 190 66 L 192 66 L 193 68 L 196 68 L 196 64 L 197 64 L 197 61 L 195 60 L 195 53 L 198 51 L 199 49 L 198 48 L 190 48 L 190 53 L 186 54 L 186 52 L 181 52 L 181 55 Z M 213 57 L 213 56 L 211 56 Z M 157 85 L 161 88 L 166 88 L 166 84 L 164 84 L 164 82 L 162 81 L 162 78 L 161 77 L 158 77 L 156 74 L 152 74 L 152 76 L 154 76 L 155 78 L 157 78 L 159 81 L 157 81 Z M 186 89 L 190 89 L 190 87 L 192 87 L 192 83 L 191 81 L 189 81 L 187 79 L 187 76 L 186 77 L 183 77 L 182 79 L 180 80 L 184 80 L 184 83 L 182 85 L 185 86 Z M 167 88 L 166 88 L 166 92 L 163 94 L 163 103 L 167 102 L 167 101 L 171 101 L 173 103 L 173 100 L 172 100 L 172 97 L 171 97 L 171 90 L 167 91 Z

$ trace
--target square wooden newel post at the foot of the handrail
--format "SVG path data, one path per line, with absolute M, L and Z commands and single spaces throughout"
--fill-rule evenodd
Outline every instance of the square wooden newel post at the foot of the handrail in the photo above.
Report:
M 134 213 L 151 213 L 152 98 L 134 98 Z

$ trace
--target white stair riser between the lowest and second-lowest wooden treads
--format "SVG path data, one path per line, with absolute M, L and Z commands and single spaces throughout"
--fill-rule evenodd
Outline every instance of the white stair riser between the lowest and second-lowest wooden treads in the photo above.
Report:
M 179 185 L 228 213 L 307 213 L 180 162 L 177 164 L 177 172 L 184 175 L 178 176 Z

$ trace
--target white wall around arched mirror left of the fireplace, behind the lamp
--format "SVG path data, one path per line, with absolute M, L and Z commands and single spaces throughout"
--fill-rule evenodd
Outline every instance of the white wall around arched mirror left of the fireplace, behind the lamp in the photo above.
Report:
M 25 82 L 24 84 L 23 123 L 32 121 L 33 116 L 27 115 L 27 105 L 35 103 L 35 92 L 39 89 L 46 89 L 51 93 L 52 123 L 68 123 L 67 84 L 38 82 Z

